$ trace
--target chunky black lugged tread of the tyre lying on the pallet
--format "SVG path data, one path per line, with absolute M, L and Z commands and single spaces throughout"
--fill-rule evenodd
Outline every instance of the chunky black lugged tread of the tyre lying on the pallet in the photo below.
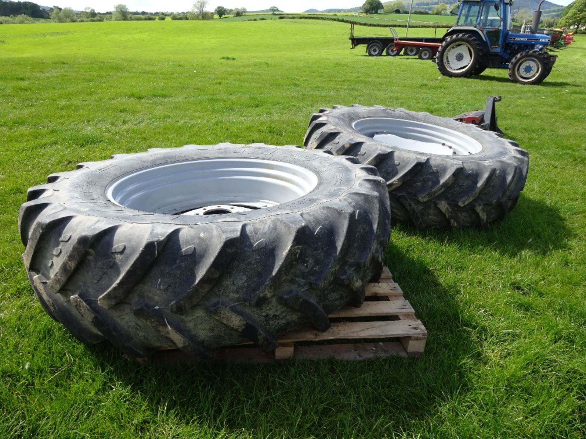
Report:
M 81 341 L 107 339 L 135 357 L 173 348 L 209 356 L 247 341 L 274 349 L 284 332 L 307 324 L 326 330 L 327 315 L 360 303 L 365 284 L 380 276 L 389 239 L 386 187 L 354 157 L 325 156 L 355 172 L 340 198 L 239 225 L 132 224 L 67 204 L 76 173 L 156 153 L 52 174 L 19 212 L 33 289 Z

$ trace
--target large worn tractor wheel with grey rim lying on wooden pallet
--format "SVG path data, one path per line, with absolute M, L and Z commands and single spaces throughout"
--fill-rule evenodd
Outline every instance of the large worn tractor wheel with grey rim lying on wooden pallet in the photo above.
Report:
M 19 228 L 40 303 L 83 342 L 270 350 L 380 276 L 389 201 L 354 157 L 188 145 L 77 168 L 29 189 Z

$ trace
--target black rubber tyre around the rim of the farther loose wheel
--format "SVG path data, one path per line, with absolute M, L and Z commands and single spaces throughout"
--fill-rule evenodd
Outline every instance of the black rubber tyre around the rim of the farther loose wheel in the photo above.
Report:
M 355 131 L 352 122 L 367 116 L 450 124 L 456 130 L 461 123 L 424 112 L 362 105 L 335 105 L 312 116 L 305 148 L 356 156 L 361 163 L 376 167 L 387 182 L 394 219 L 422 229 L 486 227 L 515 206 L 529 167 L 528 154 L 518 143 L 466 125 L 461 131 L 472 130 L 477 137 L 498 143 L 501 156 L 464 161 L 458 156 L 418 154 L 392 148 Z M 318 136 L 333 140 L 317 141 Z

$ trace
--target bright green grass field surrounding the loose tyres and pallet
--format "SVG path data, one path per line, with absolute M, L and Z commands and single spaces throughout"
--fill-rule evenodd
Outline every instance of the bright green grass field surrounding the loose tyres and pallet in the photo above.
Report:
M 446 78 L 416 57 L 367 57 L 348 28 L 0 26 L 0 437 L 586 435 L 584 37 L 523 86 L 505 70 Z M 484 231 L 393 226 L 387 265 L 429 332 L 422 358 L 138 366 L 77 342 L 29 285 L 18 208 L 47 174 L 185 143 L 298 144 L 334 104 L 452 116 L 493 94 L 530 154 L 515 210 Z

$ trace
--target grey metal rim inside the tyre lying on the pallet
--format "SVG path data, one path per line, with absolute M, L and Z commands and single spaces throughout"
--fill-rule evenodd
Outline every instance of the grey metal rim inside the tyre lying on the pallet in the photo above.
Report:
M 135 170 L 106 187 L 122 207 L 160 214 L 244 213 L 288 203 L 311 192 L 318 177 L 291 163 L 203 159 Z

